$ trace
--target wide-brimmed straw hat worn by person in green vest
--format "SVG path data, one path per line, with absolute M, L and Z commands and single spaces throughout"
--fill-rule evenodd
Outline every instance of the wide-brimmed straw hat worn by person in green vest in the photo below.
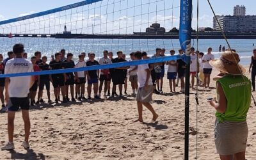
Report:
M 228 50 L 221 54 L 219 60 L 211 60 L 210 65 L 227 74 L 243 75 L 246 73 L 246 69 L 238 64 L 239 61 L 237 52 Z

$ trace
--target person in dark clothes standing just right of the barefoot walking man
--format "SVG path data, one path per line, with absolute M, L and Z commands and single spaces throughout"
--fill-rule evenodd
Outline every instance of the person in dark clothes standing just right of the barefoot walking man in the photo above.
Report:
M 161 48 L 157 48 L 156 54 L 154 54 L 154 56 L 152 56 L 152 58 L 161 57 L 160 56 L 161 51 L 162 51 Z M 162 75 L 161 65 L 163 65 L 162 62 L 154 63 L 154 70 L 155 70 L 155 74 L 156 74 L 156 84 L 157 84 L 157 90 L 155 91 L 156 93 L 161 93 L 161 90 L 160 90 L 160 79 L 161 79 L 161 75 Z

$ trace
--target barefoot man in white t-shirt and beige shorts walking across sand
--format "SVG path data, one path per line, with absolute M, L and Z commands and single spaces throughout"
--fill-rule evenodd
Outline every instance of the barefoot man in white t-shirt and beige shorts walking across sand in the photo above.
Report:
M 135 52 L 134 54 L 135 60 L 141 60 L 142 54 L 140 51 Z M 138 93 L 137 93 L 137 105 L 138 105 L 138 114 L 139 118 L 135 122 L 143 122 L 142 111 L 143 105 L 151 111 L 153 114 L 152 121 L 156 121 L 158 115 L 154 111 L 154 108 L 151 106 L 149 102 L 152 101 L 152 94 L 154 91 L 154 86 L 151 79 L 151 73 L 147 64 L 138 65 Z

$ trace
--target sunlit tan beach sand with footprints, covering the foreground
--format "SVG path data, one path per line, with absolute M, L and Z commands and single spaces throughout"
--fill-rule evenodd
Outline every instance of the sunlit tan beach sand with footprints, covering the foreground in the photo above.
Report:
M 214 70 L 213 75 L 218 71 Z M 211 86 L 214 87 L 214 81 Z M 136 100 L 102 99 L 97 102 L 73 103 L 65 106 L 40 105 L 31 109 L 31 150 L 24 150 L 24 124 L 21 113 L 15 118 L 15 151 L 0 151 L 0 159 L 183 159 L 184 158 L 184 95 L 169 93 L 164 77 L 164 94 L 153 95 L 152 106 L 159 115 L 152 123 L 152 115 L 143 109 L 143 120 L 138 118 Z M 180 87 L 177 88 L 177 91 Z M 45 92 L 44 92 L 45 93 Z M 132 93 L 130 83 L 128 93 Z M 253 95 L 256 96 L 254 92 Z M 51 92 L 54 100 L 53 92 Z M 199 87 L 198 159 L 218 159 L 214 145 L 215 109 L 207 97 L 216 90 Z M 46 96 L 44 95 L 44 99 Z M 252 103 L 253 106 L 253 103 Z M 255 159 L 256 111 L 248 112 L 248 143 L 246 159 Z M 189 157 L 196 157 L 196 101 L 195 90 L 190 94 Z M 0 115 L 0 145 L 7 140 L 7 114 Z

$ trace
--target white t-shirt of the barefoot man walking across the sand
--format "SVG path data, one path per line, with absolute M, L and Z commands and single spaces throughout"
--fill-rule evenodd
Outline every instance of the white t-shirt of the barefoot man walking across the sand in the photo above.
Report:
M 139 88 L 145 86 L 145 82 L 146 82 L 146 79 L 147 79 L 146 69 L 149 69 L 147 64 L 138 65 L 137 75 L 138 75 L 138 86 L 139 86 Z M 151 74 L 150 74 L 150 77 L 148 79 L 148 85 L 152 85 L 152 84 L 153 83 L 152 83 L 152 78 L 151 78 Z

